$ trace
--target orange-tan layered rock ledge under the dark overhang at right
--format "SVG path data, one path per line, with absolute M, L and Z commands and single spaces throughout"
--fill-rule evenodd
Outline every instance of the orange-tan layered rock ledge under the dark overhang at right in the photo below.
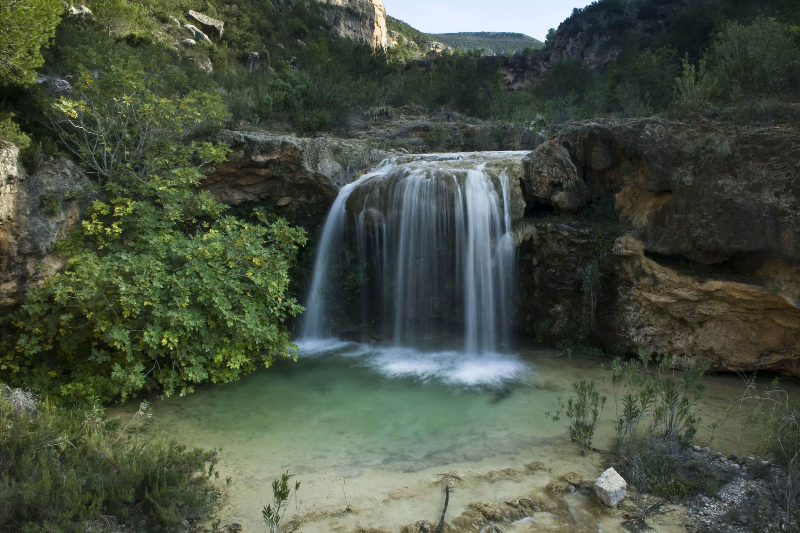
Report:
M 696 356 L 712 368 L 800 376 L 796 293 L 753 280 L 686 274 L 647 257 L 644 243 L 630 234 L 617 239 L 613 253 L 624 289 L 614 332 L 620 350 L 642 347 Z

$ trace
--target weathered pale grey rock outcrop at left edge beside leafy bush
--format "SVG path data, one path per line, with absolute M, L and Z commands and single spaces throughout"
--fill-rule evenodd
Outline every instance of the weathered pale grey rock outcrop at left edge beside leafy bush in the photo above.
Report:
M 78 223 L 86 176 L 72 161 L 51 158 L 26 172 L 13 145 L 0 145 L 0 312 L 64 264 L 55 243 Z

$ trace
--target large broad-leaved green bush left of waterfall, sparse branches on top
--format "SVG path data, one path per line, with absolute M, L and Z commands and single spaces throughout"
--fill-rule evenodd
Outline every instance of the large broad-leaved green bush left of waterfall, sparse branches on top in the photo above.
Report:
M 51 102 L 51 125 L 98 181 L 103 200 L 59 245 L 66 268 L 8 319 L 0 372 L 66 400 L 192 392 L 295 355 L 286 295 L 305 232 L 254 210 L 226 215 L 196 192 L 224 145 L 188 141 L 224 107 L 171 87 L 135 58 L 75 77 L 79 99 Z M 108 61 L 111 59 L 110 61 Z

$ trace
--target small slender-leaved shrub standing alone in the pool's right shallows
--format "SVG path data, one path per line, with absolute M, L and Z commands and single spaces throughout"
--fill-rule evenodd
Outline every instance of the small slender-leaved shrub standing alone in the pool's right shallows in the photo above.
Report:
M 566 416 L 570 421 L 570 440 L 580 445 L 581 455 L 586 455 L 600 423 L 602 410 L 606 406 L 606 396 L 600 396 L 594 380 L 574 381 L 572 390 L 575 396 L 566 400 L 566 404 L 558 396 L 558 410 L 554 414 L 548 412 L 546 416 L 554 422 L 561 420 L 562 414 Z

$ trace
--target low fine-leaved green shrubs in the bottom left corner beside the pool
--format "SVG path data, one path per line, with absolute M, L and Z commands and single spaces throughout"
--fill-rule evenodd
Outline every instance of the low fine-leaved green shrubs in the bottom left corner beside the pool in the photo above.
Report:
M 143 403 L 131 423 L 148 415 Z M 0 428 L 8 531 L 172 531 L 214 507 L 214 452 L 121 429 L 98 404 L 57 408 L 2 386 Z

